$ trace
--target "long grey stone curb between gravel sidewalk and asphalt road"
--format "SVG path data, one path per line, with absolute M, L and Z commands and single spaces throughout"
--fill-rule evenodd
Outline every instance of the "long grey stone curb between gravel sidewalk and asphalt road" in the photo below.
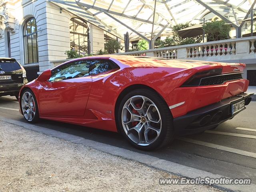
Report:
M 196 178 L 196 177 L 210 177 L 210 178 L 221 178 L 226 176 L 218 175 L 218 174 L 213 174 L 207 171 L 199 170 L 196 168 L 184 166 L 178 163 L 170 162 L 167 160 L 163 160 L 160 158 L 156 158 L 147 154 L 140 154 L 138 152 L 133 152 L 124 148 L 119 148 L 116 146 L 112 146 L 109 144 L 104 144 L 100 142 L 96 142 L 93 140 L 88 140 L 79 136 L 75 136 L 72 134 L 67 134 L 63 133 L 60 131 L 36 126 L 34 124 L 29 124 L 25 122 L 20 122 L 17 120 L 12 120 L 12 119 L 7 119 L 4 117 L 1 117 L 1 120 L 4 122 L 8 122 L 10 124 L 14 124 L 17 126 L 21 126 L 23 128 L 35 131 L 35 132 L 40 132 L 43 134 L 46 134 L 48 136 L 53 136 L 56 138 L 64 139 L 76 144 L 82 144 L 87 147 L 94 148 L 96 150 L 99 150 L 101 152 L 105 152 L 114 156 L 122 157 L 128 160 L 133 160 L 136 162 L 140 162 L 146 166 L 166 171 L 169 172 L 170 174 L 174 174 L 177 176 L 184 176 L 187 178 Z M 226 191 L 243 191 L 243 192 L 252 192 L 255 190 L 256 185 L 255 184 L 250 184 L 250 185 L 212 185 L 215 188 L 219 188 L 220 190 L 226 190 Z

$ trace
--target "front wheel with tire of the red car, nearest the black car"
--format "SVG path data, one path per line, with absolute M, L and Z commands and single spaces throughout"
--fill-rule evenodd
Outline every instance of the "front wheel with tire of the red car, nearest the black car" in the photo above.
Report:
M 20 108 L 26 121 L 36 123 L 39 120 L 38 105 L 32 90 L 26 89 L 20 96 Z

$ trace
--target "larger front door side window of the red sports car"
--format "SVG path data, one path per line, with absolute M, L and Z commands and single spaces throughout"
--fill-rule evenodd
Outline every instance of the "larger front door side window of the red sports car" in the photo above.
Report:
M 68 63 L 64 66 L 56 68 L 52 71 L 52 76 L 49 81 L 62 81 L 65 79 L 72 79 L 84 77 L 89 75 L 89 60 L 82 60 L 73 63 Z

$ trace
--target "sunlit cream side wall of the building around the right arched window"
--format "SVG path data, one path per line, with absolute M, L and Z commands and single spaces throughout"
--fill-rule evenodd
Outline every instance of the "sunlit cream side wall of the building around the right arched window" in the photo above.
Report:
M 49 59 L 50 61 L 66 59 L 64 52 L 70 50 L 69 21 L 76 16 L 65 10 L 60 13 L 60 8 L 50 2 L 47 2 L 46 7 Z M 91 24 L 88 24 L 88 27 L 91 52 L 104 50 L 104 31 Z

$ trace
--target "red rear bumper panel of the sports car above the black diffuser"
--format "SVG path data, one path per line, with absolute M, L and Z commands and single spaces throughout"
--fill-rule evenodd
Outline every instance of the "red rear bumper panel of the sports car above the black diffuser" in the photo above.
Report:
M 177 118 L 186 115 L 190 111 L 246 92 L 248 84 L 248 80 L 241 79 L 229 81 L 222 85 L 178 87 L 165 100 L 168 106 L 185 101 L 181 106 L 171 109 L 172 116 Z

